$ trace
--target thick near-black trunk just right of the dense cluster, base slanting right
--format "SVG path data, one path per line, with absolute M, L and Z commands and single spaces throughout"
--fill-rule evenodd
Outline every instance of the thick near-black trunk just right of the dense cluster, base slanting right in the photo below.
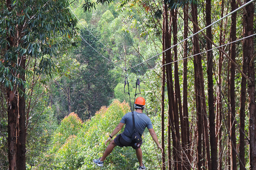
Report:
M 205 4 L 206 26 L 211 24 L 211 0 L 206 0 Z M 207 37 L 212 40 L 211 27 L 206 29 Z M 215 137 L 215 114 L 214 114 L 214 96 L 213 96 L 213 79 L 212 79 L 212 46 L 207 40 L 207 80 L 208 80 L 208 106 L 209 106 L 209 124 L 210 124 L 210 144 L 211 144 L 211 169 L 217 170 L 217 143 Z M 210 168 L 210 167 L 209 167 Z

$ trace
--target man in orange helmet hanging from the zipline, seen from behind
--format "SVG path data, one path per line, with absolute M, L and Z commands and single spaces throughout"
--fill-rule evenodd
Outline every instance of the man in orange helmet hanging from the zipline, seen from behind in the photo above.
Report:
M 143 113 L 145 107 L 145 99 L 143 97 L 138 97 L 135 100 L 134 108 L 135 111 L 133 112 L 128 112 L 125 114 L 125 116 L 122 117 L 120 123 L 117 125 L 117 127 L 114 129 L 114 131 L 109 135 L 109 138 L 105 142 L 105 145 L 110 141 L 108 147 L 106 148 L 105 152 L 103 153 L 103 156 L 99 159 L 93 159 L 93 163 L 97 164 L 100 167 L 103 167 L 103 162 L 106 159 L 106 157 L 112 152 L 112 150 L 116 147 L 132 147 L 136 151 L 136 156 L 139 161 L 139 167 L 138 170 L 145 170 L 146 167 L 142 163 L 142 151 L 141 151 L 141 135 L 143 134 L 145 128 L 148 128 L 148 131 L 157 144 L 157 148 L 159 148 L 163 152 L 163 148 L 161 147 L 156 133 L 153 129 L 152 122 L 150 118 Z M 134 113 L 134 120 L 132 120 L 133 116 L 132 113 Z M 118 134 L 117 137 L 112 140 L 113 136 L 115 136 L 124 126 L 125 124 L 125 130 L 121 134 Z M 138 135 L 135 135 L 136 141 L 134 141 L 134 133 L 136 132 L 139 133 L 140 137 L 138 139 Z

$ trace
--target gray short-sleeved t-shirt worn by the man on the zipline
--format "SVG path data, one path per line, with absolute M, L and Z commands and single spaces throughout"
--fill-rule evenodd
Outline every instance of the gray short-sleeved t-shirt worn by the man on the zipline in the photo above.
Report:
M 139 132 L 139 134 L 143 134 L 146 127 L 148 129 L 153 129 L 152 122 L 145 113 L 138 113 L 134 111 L 134 120 L 136 131 Z M 131 112 L 126 113 L 125 116 L 122 117 L 120 123 L 125 123 L 125 130 L 122 132 L 121 137 L 125 141 L 131 142 L 131 136 L 133 134 Z

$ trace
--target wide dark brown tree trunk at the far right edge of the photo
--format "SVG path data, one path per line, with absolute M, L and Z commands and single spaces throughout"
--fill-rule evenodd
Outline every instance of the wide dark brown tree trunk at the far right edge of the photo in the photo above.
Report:
M 246 0 L 248 2 L 248 0 Z M 254 4 L 250 3 L 245 7 L 246 14 L 244 14 L 244 37 L 254 33 Z M 251 82 L 248 82 L 249 93 L 249 160 L 250 169 L 256 170 L 256 104 L 255 104 L 255 68 L 254 68 L 254 41 L 253 37 L 244 40 L 243 55 L 247 58 L 248 77 Z

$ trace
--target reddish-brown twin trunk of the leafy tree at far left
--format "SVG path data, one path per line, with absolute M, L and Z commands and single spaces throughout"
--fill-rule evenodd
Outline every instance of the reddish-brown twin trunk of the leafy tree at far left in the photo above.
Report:
M 6 0 L 6 6 L 12 11 L 12 2 Z M 15 37 L 7 37 L 10 42 L 7 48 L 17 47 L 19 44 L 20 34 L 22 30 L 18 26 L 15 30 Z M 19 53 L 18 53 L 19 55 Z M 19 66 L 25 69 L 26 57 L 18 57 Z M 13 72 L 13 74 L 16 74 Z M 25 73 L 19 73 L 18 78 L 25 81 Z M 23 93 L 23 94 L 20 94 Z M 7 89 L 7 113 L 8 113 L 8 160 L 10 170 L 26 169 L 26 114 L 25 114 L 25 87 L 20 84 L 13 85 L 13 89 Z

